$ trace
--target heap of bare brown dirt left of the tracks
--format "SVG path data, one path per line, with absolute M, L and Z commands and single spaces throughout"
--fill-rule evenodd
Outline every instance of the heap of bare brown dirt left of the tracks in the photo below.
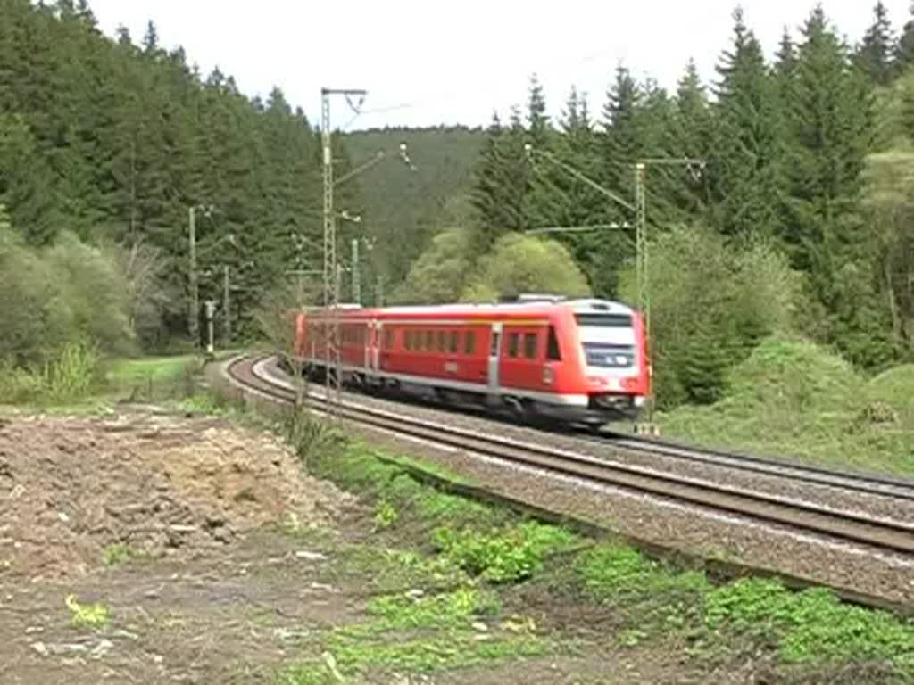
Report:
M 0 424 L 0 585 L 82 574 L 106 550 L 162 555 L 350 501 L 267 434 L 213 418 L 32 417 Z

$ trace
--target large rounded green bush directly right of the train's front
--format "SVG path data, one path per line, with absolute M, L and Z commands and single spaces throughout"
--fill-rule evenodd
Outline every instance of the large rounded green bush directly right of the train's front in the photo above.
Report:
M 728 370 L 765 336 L 790 331 L 801 279 L 764 242 L 728 245 L 707 227 L 677 227 L 651 244 L 654 383 L 659 406 L 710 404 Z M 622 295 L 637 300 L 633 267 Z

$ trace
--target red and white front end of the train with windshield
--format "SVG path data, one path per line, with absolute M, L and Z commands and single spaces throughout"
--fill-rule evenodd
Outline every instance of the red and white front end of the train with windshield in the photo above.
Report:
M 588 398 L 583 421 L 597 425 L 636 418 L 650 388 L 641 316 L 607 300 L 569 302 L 563 313 L 563 346 L 575 351 L 568 372 Z

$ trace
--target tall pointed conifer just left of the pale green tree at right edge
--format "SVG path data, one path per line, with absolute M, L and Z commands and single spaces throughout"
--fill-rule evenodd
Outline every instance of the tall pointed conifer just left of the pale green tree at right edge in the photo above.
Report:
M 826 337 L 866 364 L 883 353 L 876 344 L 854 342 L 880 309 L 866 266 L 872 240 L 859 214 L 872 96 L 821 7 L 806 20 L 802 37 L 789 112 L 791 198 L 783 237 L 794 266 L 810 274 L 829 311 Z

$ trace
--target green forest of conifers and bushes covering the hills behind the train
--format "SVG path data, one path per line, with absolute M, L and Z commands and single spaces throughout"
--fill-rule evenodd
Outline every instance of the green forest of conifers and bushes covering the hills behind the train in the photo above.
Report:
M 201 300 L 221 303 L 228 274 L 218 330 L 256 339 L 260 303 L 321 266 L 317 122 L 279 87 L 264 100 L 199 73 L 153 23 L 103 36 L 87 0 L 0 0 L 0 17 L 2 364 L 197 344 L 191 207 Z M 860 374 L 909 361 L 914 16 L 893 26 L 877 4 L 848 44 L 818 6 L 766 48 L 737 9 L 710 82 L 689 63 L 668 91 L 607 65 L 599 111 L 569 83 L 547 116 L 532 76 L 526 103 L 485 130 L 335 135 L 336 174 L 386 153 L 336 191 L 359 219 L 338 221 L 344 299 L 355 266 L 367 304 L 527 290 L 634 302 L 631 211 L 569 168 L 629 202 L 647 160 L 661 406 L 717 401 L 771 336 Z

